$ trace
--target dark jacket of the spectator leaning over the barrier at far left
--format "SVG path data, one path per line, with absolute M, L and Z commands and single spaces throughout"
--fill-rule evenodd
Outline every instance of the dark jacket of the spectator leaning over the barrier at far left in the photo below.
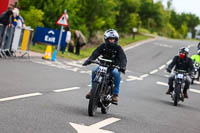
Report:
M 6 12 L 3 12 L 0 16 L 0 24 L 8 25 L 11 23 L 11 15 L 13 12 L 11 10 L 7 10 Z

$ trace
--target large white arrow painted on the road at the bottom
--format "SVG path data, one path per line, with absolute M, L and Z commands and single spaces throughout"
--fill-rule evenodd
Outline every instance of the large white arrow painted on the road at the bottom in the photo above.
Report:
M 71 122 L 69 124 L 77 131 L 77 133 L 114 133 L 112 131 L 107 131 L 100 128 L 110 125 L 119 120 L 120 119 L 118 118 L 108 118 L 91 126 L 79 125 Z

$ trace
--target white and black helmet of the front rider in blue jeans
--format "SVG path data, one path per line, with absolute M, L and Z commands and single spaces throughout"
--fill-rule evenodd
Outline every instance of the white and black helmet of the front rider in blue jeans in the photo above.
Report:
M 110 44 L 110 42 L 109 42 L 110 38 L 114 38 L 115 39 L 114 44 L 117 44 L 117 42 L 119 40 L 119 34 L 117 33 L 116 30 L 114 30 L 114 29 L 108 29 L 108 30 L 105 31 L 105 33 L 104 33 L 104 40 L 105 40 L 106 44 Z M 113 45 L 113 44 L 110 44 L 110 45 Z

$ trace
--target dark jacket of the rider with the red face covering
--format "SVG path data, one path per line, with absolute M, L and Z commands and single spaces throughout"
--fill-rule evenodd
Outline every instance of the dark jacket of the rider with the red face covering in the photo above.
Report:
M 186 57 L 184 59 L 180 59 L 178 55 L 173 58 L 173 61 L 169 64 L 168 68 L 172 70 L 174 66 L 175 70 L 181 69 L 187 71 L 188 73 L 192 72 L 194 69 L 191 58 Z

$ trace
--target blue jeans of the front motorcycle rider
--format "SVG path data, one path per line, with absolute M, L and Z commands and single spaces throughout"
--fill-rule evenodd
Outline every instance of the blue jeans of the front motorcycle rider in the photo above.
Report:
M 99 67 L 96 67 L 92 70 L 92 88 L 93 88 L 93 81 L 94 81 L 94 78 L 95 78 L 95 72 L 98 70 Z M 112 71 L 112 75 L 114 77 L 114 91 L 113 91 L 113 94 L 116 94 L 118 95 L 119 94 L 119 87 L 120 87 L 120 72 L 118 71 L 118 69 L 114 69 Z

